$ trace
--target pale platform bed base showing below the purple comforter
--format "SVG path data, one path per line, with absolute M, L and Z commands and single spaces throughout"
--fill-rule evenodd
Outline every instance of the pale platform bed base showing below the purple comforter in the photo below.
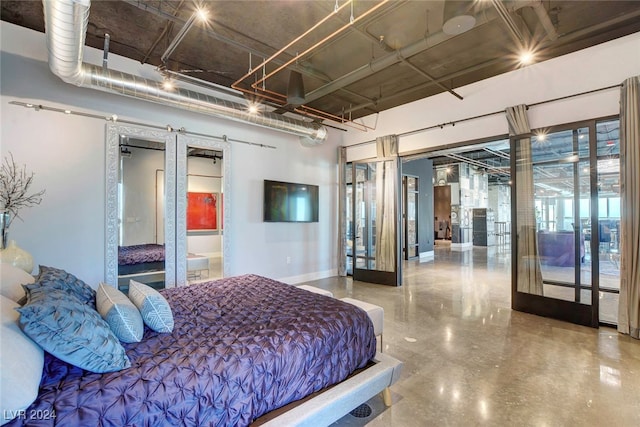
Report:
M 252 426 L 326 426 L 378 393 L 382 393 L 385 405 L 391 406 L 389 387 L 400 378 L 402 362 L 380 352 L 372 362 L 371 366 L 343 382 L 302 403 L 294 403 L 291 409 L 282 413 L 274 411 L 258 418 Z

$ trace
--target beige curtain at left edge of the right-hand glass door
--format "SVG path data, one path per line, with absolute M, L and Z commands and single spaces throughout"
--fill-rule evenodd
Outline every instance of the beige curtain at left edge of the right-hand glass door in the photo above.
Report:
M 542 270 L 538 258 L 536 217 L 533 188 L 533 159 L 531 128 L 526 105 L 506 109 L 509 135 L 516 140 L 516 203 L 517 203 L 517 259 L 518 292 L 542 295 Z M 521 137 L 522 136 L 522 137 Z

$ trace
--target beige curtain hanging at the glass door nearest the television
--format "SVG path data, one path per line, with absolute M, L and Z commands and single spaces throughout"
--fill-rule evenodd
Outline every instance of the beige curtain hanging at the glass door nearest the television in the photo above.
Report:
M 378 271 L 396 269 L 396 205 L 398 137 L 376 138 L 376 267 Z

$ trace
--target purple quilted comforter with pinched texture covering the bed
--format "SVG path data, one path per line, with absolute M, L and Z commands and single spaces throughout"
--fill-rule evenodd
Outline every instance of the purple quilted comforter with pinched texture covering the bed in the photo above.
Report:
M 15 425 L 243 426 L 345 379 L 376 351 L 359 308 L 256 275 L 162 291 L 171 334 L 145 327 L 132 367 L 94 374 L 50 355 Z M 44 418 L 44 417 L 43 417 Z

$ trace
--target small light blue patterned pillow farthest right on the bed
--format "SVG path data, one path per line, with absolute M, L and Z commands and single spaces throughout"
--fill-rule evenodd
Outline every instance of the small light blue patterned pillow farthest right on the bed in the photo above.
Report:
M 129 299 L 140 310 L 145 325 L 156 332 L 173 331 L 173 313 L 160 292 L 151 286 L 130 280 Z

